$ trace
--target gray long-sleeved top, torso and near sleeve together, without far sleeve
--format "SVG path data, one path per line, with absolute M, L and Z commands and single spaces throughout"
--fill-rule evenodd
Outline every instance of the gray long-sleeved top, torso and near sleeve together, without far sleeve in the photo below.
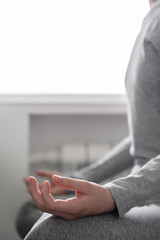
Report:
M 130 152 L 138 165 L 145 165 L 106 185 L 120 216 L 132 207 L 160 202 L 160 1 L 143 21 L 126 73 L 126 88 Z

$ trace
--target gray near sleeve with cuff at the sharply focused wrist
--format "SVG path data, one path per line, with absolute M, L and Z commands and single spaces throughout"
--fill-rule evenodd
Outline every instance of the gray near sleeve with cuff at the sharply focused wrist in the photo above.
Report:
M 105 187 L 111 191 L 120 217 L 133 207 L 160 202 L 160 155 Z

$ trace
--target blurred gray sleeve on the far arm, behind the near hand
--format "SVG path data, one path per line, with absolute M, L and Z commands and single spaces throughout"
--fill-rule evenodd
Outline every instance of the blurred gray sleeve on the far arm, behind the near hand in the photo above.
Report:
M 129 153 L 130 145 L 131 138 L 127 137 L 100 160 L 70 176 L 98 183 L 120 173 L 133 166 L 133 157 Z

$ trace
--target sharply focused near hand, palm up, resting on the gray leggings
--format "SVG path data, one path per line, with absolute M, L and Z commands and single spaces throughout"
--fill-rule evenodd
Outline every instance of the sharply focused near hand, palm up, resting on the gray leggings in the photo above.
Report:
M 41 191 L 36 178 L 28 177 L 26 181 L 37 207 L 64 219 L 110 212 L 116 208 L 110 191 L 96 183 L 54 175 L 52 181 L 56 186 L 74 190 L 76 195 L 66 200 L 54 200 L 48 181 L 44 181 Z

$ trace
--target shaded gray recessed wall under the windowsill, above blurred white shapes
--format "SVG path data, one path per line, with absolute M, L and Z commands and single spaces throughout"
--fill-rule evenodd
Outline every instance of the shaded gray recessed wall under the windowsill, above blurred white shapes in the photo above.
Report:
M 125 114 L 30 116 L 30 151 L 51 150 L 66 143 L 117 143 L 127 136 Z

